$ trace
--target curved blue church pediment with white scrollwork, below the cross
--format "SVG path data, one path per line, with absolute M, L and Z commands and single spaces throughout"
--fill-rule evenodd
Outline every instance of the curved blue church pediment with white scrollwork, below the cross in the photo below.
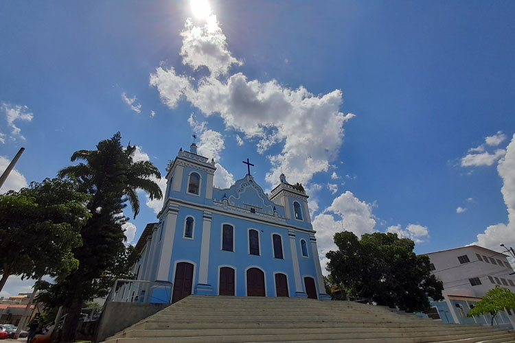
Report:
M 278 206 L 268 199 L 260 185 L 249 175 L 237 180 L 228 189 L 216 189 L 213 200 L 221 202 L 224 198 L 227 198 L 231 206 L 254 209 L 256 212 L 269 215 L 273 215 L 274 206 Z

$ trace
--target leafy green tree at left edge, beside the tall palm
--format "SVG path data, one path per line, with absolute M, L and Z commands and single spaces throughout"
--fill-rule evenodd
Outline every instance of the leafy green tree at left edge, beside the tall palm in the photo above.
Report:
M 71 250 L 82 244 L 88 200 L 58 178 L 0 196 L 0 291 L 10 275 L 62 278 L 78 268 Z

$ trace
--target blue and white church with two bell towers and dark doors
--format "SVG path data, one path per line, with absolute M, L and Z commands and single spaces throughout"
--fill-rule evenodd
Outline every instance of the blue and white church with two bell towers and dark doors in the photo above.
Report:
M 248 166 L 250 163 L 247 159 Z M 179 150 L 166 175 L 159 222 L 136 245 L 132 301 L 175 303 L 190 294 L 289 296 L 325 294 L 308 196 L 280 176 L 267 196 L 249 172 L 228 189 L 213 186 L 215 163 Z M 159 282 L 168 285 L 160 285 Z M 124 291 L 125 292 L 125 291 Z M 131 301 L 129 300 L 129 301 Z

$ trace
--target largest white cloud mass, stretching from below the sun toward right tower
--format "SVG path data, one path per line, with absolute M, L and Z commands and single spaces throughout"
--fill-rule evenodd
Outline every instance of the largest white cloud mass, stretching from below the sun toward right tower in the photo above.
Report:
M 302 86 L 286 88 L 276 80 L 249 81 L 242 73 L 218 80 L 218 75 L 239 62 L 227 50 L 216 17 L 210 20 L 205 27 L 186 22 L 181 55 L 183 63 L 193 69 L 205 65 L 211 75 L 197 82 L 176 75 L 173 68 L 157 68 L 150 75 L 150 84 L 157 87 L 163 102 L 174 108 L 185 97 L 204 115 L 220 115 L 227 129 L 242 132 L 247 139 L 259 139 L 261 153 L 284 143 L 280 154 L 267 156 L 273 165 L 266 174 L 271 184 L 277 183 L 281 169 L 290 180 L 302 183 L 328 171 L 343 143 L 343 124 L 354 117 L 339 111 L 341 91 L 313 95 Z

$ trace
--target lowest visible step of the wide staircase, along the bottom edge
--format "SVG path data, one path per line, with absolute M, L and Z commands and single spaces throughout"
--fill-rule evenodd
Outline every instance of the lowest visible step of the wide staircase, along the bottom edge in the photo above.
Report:
M 285 334 L 285 335 L 226 335 L 226 336 L 190 336 L 190 337 L 145 337 L 143 338 L 110 338 L 106 340 L 108 343 L 124 343 L 124 342 L 141 342 L 145 343 L 163 343 L 163 342 L 185 342 L 185 343 L 241 343 L 241 342 L 389 342 L 389 343 L 422 343 L 422 342 L 446 342 L 446 343 L 474 343 L 484 342 L 485 340 L 506 339 L 509 340 L 513 336 L 509 333 L 494 334 L 468 334 L 468 335 L 445 335 L 437 337 L 409 337 L 387 338 L 382 335 L 379 337 L 367 337 L 365 335 L 353 335 L 349 337 L 345 335 L 342 338 L 340 333 L 322 333 L 322 334 Z M 511 337 L 510 337 L 511 336 Z

